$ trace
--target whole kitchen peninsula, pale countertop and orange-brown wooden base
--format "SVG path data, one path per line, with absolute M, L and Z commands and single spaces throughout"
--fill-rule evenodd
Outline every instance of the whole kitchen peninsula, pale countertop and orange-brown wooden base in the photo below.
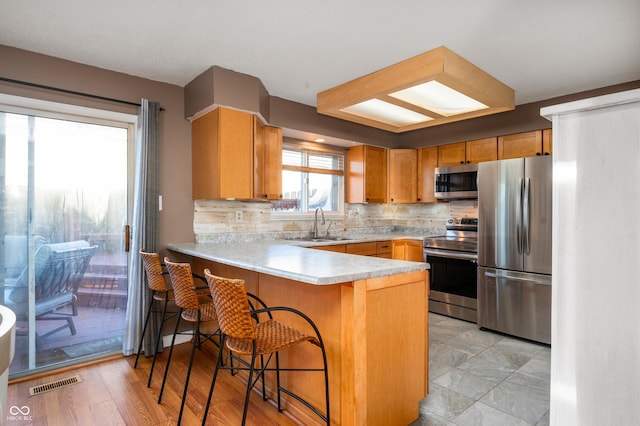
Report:
M 268 305 L 299 309 L 316 323 L 327 347 L 332 424 L 409 424 L 418 418 L 418 403 L 428 391 L 426 263 L 281 241 L 167 248 L 172 258 L 191 262 L 194 272 L 209 268 L 216 275 L 242 278 L 248 291 Z M 291 348 L 281 355 L 281 363 L 308 366 L 320 359 L 314 349 Z M 282 380 L 323 406 L 320 375 L 289 378 L 283 373 Z M 284 406 L 304 424 L 318 422 L 297 401 L 287 399 Z

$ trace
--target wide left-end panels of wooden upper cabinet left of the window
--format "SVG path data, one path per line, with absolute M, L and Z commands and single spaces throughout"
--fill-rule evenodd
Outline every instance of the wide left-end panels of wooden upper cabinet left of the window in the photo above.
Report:
M 253 198 L 253 116 L 217 108 L 191 129 L 193 199 Z

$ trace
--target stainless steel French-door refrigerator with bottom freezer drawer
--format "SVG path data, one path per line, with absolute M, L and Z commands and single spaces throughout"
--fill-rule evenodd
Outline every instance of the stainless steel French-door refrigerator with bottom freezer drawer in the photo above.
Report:
M 478 164 L 478 325 L 551 343 L 551 157 Z

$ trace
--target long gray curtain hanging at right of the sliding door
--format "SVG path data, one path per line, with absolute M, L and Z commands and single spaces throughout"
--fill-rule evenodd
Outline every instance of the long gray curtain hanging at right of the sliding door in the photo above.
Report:
M 138 350 L 142 325 L 151 298 L 145 280 L 140 249 L 157 252 L 158 223 L 158 121 L 160 104 L 142 99 L 136 125 L 133 220 L 129 265 L 129 297 L 125 318 L 122 353 L 131 355 Z M 147 327 L 144 353 L 153 355 L 155 321 Z

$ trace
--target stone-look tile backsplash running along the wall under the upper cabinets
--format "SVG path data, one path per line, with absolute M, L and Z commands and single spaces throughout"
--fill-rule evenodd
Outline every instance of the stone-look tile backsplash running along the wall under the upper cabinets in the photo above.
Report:
M 477 200 L 434 204 L 345 204 L 341 215 L 326 214 L 325 232 L 333 235 L 385 233 L 444 233 L 450 216 L 475 217 Z M 196 242 L 254 241 L 307 236 L 313 218 L 278 215 L 270 203 L 236 200 L 195 200 L 193 230 Z

